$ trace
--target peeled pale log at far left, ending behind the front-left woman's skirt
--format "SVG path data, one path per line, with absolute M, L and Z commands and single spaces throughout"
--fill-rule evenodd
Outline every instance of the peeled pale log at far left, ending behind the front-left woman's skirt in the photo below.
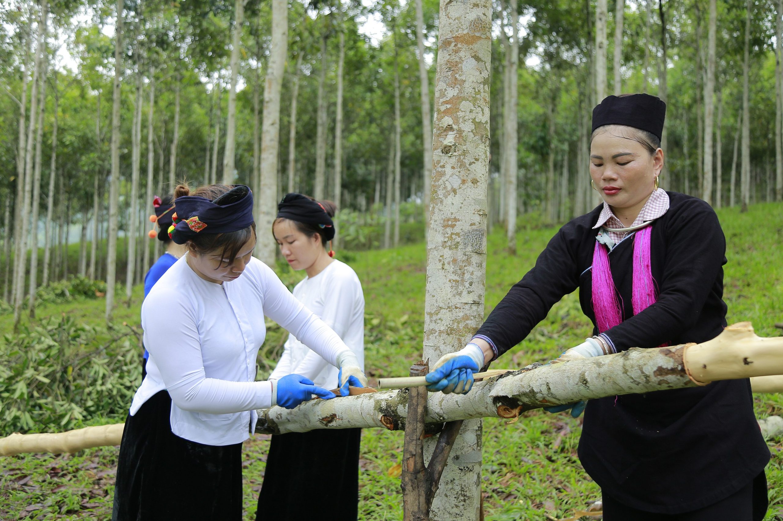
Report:
M 20 434 L 0 438 L 0 456 L 21 452 L 77 452 L 90 447 L 119 445 L 124 423 L 85 427 L 67 433 Z

